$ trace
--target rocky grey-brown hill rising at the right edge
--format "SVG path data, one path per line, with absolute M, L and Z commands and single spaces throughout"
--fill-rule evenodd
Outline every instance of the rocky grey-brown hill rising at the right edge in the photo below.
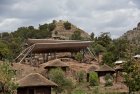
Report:
M 129 30 L 121 38 L 125 38 L 133 44 L 140 45 L 140 23 L 133 30 Z

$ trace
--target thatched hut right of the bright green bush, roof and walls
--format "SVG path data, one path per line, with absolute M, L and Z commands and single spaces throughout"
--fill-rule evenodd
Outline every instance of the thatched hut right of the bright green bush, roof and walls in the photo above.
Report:
M 111 76 L 113 76 L 115 70 L 110 66 L 104 64 L 99 69 L 95 70 L 95 72 L 97 72 L 100 82 L 104 83 L 104 77 L 106 76 L 106 74 L 110 74 Z

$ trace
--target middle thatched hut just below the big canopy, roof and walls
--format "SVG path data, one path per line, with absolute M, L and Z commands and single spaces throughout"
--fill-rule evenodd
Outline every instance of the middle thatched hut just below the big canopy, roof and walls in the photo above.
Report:
M 64 72 L 66 72 L 69 67 L 68 64 L 61 61 L 60 59 L 50 60 L 50 61 L 42 64 L 42 66 L 44 66 L 44 68 L 47 69 L 48 72 L 51 69 L 55 69 L 55 68 L 61 68 Z

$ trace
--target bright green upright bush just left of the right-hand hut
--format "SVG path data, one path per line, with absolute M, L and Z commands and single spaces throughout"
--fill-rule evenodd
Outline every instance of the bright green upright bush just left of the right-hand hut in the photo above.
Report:
M 98 74 L 96 72 L 91 72 L 89 74 L 89 83 L 91 86 L 98 86 Z

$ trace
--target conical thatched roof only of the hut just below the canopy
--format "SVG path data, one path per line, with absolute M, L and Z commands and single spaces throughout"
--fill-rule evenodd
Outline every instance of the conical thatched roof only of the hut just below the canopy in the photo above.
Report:
M 43 64 L 44 68 L 48 68 L 48 67 L 68 67 L 68 65 L 61 61 L 60 59 L 55 59 L 55 60 L 51 60 L 48 61 L 47 63 Z

